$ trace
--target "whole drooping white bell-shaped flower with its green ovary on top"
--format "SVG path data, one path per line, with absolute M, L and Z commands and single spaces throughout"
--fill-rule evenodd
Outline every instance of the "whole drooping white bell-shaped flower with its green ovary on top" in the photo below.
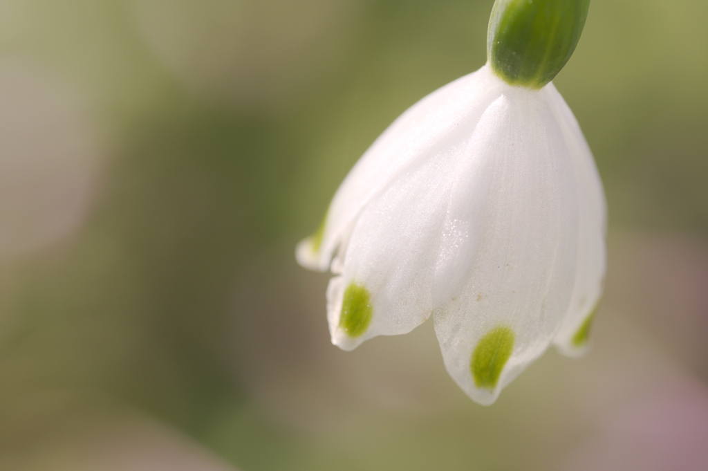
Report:
M 433 315 L 445 367 L 474 401 L 554 344 L 582 353 L 603 289 L 605 198 L 551 79 L 589 0 L 497 0 L 488 62 L 394 121 L 350 171 L 302 266 L 336 274 L 332 343 L 352 350 Z

